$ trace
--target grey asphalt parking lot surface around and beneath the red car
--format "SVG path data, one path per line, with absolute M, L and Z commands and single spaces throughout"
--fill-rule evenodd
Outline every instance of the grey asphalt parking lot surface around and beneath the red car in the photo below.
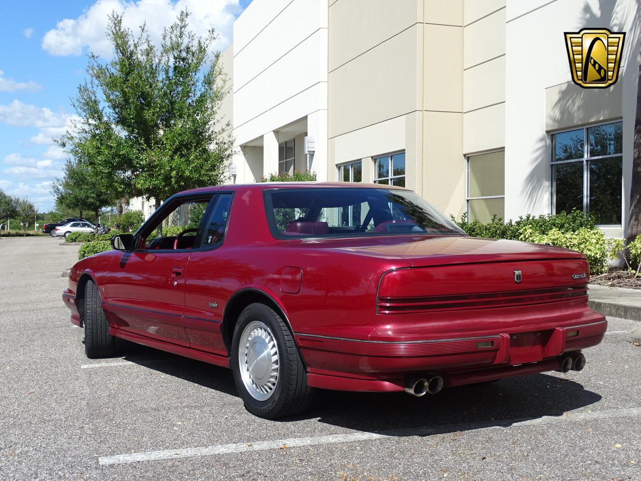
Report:
M 0 239 L 0 480 L 641 478 L 641 348 L 609 319 L 580 373 L 436 396 L 319 392 L 247 412 L 231 371 L 143 348 L 84 355 L 61 273 L 77 248 Z

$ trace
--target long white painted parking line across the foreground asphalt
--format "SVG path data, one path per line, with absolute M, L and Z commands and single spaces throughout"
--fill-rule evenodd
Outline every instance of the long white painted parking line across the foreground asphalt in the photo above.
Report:
M 476 429 L 504 429 L 513 426 L 542 425 L 572 421 L 590 421 L 592 419 L 635 418 L 637 416 L 641 416 L 641 408 L 596 412 L 578 412 L 564 414 L 563 416 L 543 416 L 542 418 L 536 419 L 506 419 L 504 421 L 492 421 L 487 423 L 480 422 L 422 428 L 404 428 L 379 432 L 354 432 L 350 434 L 331 434 L 315 437 L 294 437 L 291 439 L 279 439 L 277 441 L 257 441 L 256 443 L 219 444 L 218 446 L 204 446 L 202 448 L 147 451 L 144 453 L 126 453 L 111 456 L 101 456 L 98 458 L 98 463 L 101 466 L 107 466 L 109 464 L 126 464 L 130 462 L 276 450 L 283 448 L 283 446 L 286 446 L 287 448 L 296 448 L 299 446 L 353 443 L 354 441 L 370 441 L 372 439 L 383 439 L 399 436 L 428 436 L 446 432 L 469 431 Z

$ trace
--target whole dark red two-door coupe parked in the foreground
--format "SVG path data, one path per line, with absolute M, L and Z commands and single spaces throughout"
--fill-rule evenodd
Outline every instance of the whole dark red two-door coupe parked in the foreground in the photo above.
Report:
M 607 327 L 582 254 L 469 237 L 392 185 L 188 190 L 112 247 L 62 294 L 87 356 L 120 337 L 230 367 L 263 418 L 304 410 L 315 388 L 423 396 L 580 371 Z

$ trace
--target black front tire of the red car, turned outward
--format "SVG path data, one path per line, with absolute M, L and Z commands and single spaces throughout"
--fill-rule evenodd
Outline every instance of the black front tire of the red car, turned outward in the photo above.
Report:
M 100 293 L 94 281 L 85 284 L 85 354 L 89 359 L 113 357 L 115 337 L 109 333 L 109 323 L 104 316 Z

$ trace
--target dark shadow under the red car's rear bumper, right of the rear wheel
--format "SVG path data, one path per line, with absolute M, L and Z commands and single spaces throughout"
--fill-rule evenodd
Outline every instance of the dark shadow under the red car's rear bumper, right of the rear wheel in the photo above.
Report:
M 577 377 L 580 379 L 580 375 Z M 422 398 L 401 392 L 321 391 L 312 409 L 303 416 L 357 431 L 432 435 L 562 416 L 599 400 L 599 394 L 584 389 L 569 376 L 533 374 L 494 384 L 443 389 Z

